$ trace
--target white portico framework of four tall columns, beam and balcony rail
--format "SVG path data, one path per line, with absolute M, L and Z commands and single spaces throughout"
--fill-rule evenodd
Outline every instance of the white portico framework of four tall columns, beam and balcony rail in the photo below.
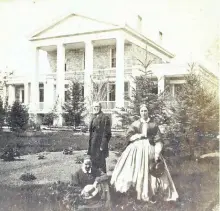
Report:
M 104 37 L 103 37 L 104 38 Z M 102 47 L 111 45 L 116 49 L 116 66 L 114 68 L 102 68 L 95 69 L 94 68 L 94 47 Z M 125 48 L 125 39 L 123 34 L 118 33 L 117 36 L 111 39 L 102 39 L 102 40 L 83 40 L 80 42 L 71 42 L 66 43 L 59 42 L 59 44 L 51 45 L 51 46 L 40 46 L 38 45 L 35 49 L 36 51 L 36 63 L 35 63 L 35 73 L 33 74 L 32 79 L 32 87 L 31 92 L 31 112 L 37 111 L 37 102 L 39 101 L 39 50 L 44 51 L 56 51 L 56 70 L 53 72 L 55 76 L 55 86 L 56 86 L 56 100 L 57 100 L 57 112 L 59 114 L 59 119 L 57 120 L 57 125 L 62 125 L 62 104 L 64 103 L 64 87 L 65 83 L 68 81 L 68 76 L 71 78 L 76 72 L 82 77 L 79 78 L 80 82 L 84 84 L 84 98 L 87 101 L 92 94 L 92 83 L 91 77 L 93 73 L 103 73 L 106 75 L 110 75 L 113 72 L 113 77 L 115 78 L 115 106 L 124 107 L 124 82 L 125 82 L 125 68 L 124 68 L 124 48 Z M 70 70 L 68 71 L 68 58 L 66 52 L 71 49 L 81 49 L 84 53 L 84 58 L 82 58 L 83 66 L 82 69 L 79 70 Z M 52 71 L 51 71 L 52 72 Z M 51 86 L 45 86 L 45 99 L 51 95 Z

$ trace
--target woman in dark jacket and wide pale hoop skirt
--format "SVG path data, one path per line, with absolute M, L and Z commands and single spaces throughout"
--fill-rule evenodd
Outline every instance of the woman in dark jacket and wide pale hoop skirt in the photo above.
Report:
M 140 106 L 140 119 L 133 122 L 127 131 L 129 145 L 119 158 L 111 178 L 116 191 L 126 193 L 134 188 L 137 199 L 156 202 L 156 195 L 162 195 L 164 201 L 176 201 L 178 193 L 161 156 L 163 143 L 155 122 L 148 116 L 146 105 Z M 149 174 L 150 166 L 162 160 L 164 173 L 156 178 Z

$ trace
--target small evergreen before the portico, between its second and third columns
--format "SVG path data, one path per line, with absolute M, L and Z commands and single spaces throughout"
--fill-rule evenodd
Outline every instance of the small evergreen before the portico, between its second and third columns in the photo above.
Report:
M 66 123 L 76 128 L 82 121 L 84 110 L 82 86 L 78 81 L 72 80 L 63 105 L 63 117 Z

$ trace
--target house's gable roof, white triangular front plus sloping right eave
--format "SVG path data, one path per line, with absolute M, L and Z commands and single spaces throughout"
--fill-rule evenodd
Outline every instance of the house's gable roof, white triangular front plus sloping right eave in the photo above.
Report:
M 69 27 L 70 25 L 71 27 Z M 117 25 L 72 12 L 33 33 L 33 35 L 30 38 L 30 41 L 51 37 L 76 35 L 98 31 L 109 31 L 116 29 L 122 29 L 128 33 L 131 33 L 133 36 L 138 37 L 143 42 L 146 42 L 149 45 L 156 48 L 157 50 L 159 50 L 160 52 L 165 53 L 170 58 L 175 57 L 174 54 L 167 51 L 165 48 L 161 47 L 151 39 L 145 37 L 143 34 L 137 32 L 136 30 L 128 26 L 126 23 L 124 23 L 123 25 Z

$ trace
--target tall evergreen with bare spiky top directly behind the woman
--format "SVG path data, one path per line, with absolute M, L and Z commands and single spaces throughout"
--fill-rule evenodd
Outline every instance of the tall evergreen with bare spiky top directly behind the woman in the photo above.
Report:
M 127 127 L 140 116 L 140 105 L 146 104 L 150 117 L 157 123 L 163 124 L 166 121 L 163 112 L 164 93 L 158 95 L 157 84 L 152 79 L 152 72 L 148 70 L 154 60 L 149 59 L 147 48 L 144 56 L 139 55 L 139 58 L 135 57 L 135 59 L 141 67 L 139 70 L 141 74 L 131 78 L 134 87 L 132 87 L 131 95 L 125 97 L 125 100 L 129 101 L 128 108 L 121 108 L 115 113 L 121 119 L 122 127 Z

